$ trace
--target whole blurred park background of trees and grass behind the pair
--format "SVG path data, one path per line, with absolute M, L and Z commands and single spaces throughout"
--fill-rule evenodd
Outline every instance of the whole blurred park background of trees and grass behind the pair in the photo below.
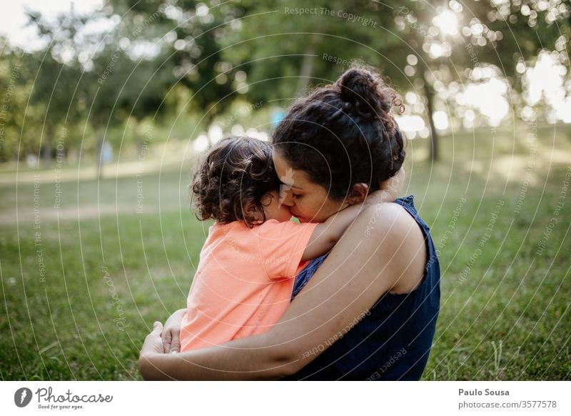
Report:
M 2 380 L 139 379 L 210 225 L 189 207 L 196 157 L 228 134 L 270 139 L 354 60 L 403 96 L 405 193 L 440 252 L 423 378 L 570 380 L 570 1 L 7 7 Z

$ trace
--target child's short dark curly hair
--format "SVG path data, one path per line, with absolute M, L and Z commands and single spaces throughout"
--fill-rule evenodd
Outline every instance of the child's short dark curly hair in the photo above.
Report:
M 261 199 L 279 186 L 270 144 L 228 137 L 198 164 L 190 189 L 198 219 L 215 219 L 221 224 L 243 221 L 254 227 L 256 220 L 245 208 L 254 204 L 266 221 Z

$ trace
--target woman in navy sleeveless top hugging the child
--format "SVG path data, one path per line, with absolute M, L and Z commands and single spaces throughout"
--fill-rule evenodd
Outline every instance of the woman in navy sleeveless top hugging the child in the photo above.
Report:
M 283 203 L 295 217 L 323 222 L 400 171 L 405 152 L 390 114 L 394 103 L 380 76 L 353 68 L 293 104 L 273 136 L 273 158 Z M 156 322 L 141 349 L 141 374 L 149 380 L 418 380 L 439 303 L 438 257 L 413 197 L 373 204 L 328 255 L 300 272 L 290 307 L 268 332 L 163 354 L 179 348 L 182 309 L 164 331 Z

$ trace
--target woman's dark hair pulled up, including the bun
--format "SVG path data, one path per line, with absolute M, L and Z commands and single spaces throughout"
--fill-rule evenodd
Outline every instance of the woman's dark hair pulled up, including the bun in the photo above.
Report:
M 333 199 L 344 199 L 357 183 L 373 192 L 405 159 L 393 105 L 404 109 L 381 76 L 354 66 L 290 107 L 273 133 L 274 149 Z

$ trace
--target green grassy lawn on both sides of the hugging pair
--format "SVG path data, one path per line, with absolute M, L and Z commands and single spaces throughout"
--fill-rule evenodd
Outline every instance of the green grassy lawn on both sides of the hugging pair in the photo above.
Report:
M 570 380 L 571 128 L 441 145 L 434 165 L 425 141 L 408 146 L 405 193 L 442 269 L 425 380 Z M 0 180 L 2 380 L 140 378 L 143 337 L 184 306 L 209 225 L 187 172 Z

